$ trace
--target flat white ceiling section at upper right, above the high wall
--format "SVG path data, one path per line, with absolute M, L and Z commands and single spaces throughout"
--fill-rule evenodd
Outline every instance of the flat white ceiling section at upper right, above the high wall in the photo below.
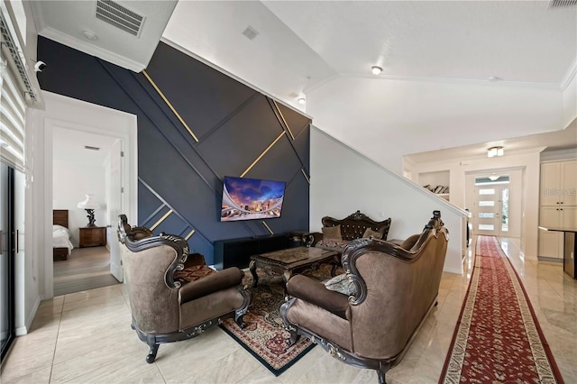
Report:
M 576 54 L 575 8 L 546 1 L 264 5 L 338 73 L 559 85 Z

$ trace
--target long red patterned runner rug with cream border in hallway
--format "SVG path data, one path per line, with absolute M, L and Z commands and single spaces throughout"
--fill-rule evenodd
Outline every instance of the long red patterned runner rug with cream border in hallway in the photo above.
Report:
M 563 383 L 525 288 L 499 241 L 479 236 L 440 383 Z

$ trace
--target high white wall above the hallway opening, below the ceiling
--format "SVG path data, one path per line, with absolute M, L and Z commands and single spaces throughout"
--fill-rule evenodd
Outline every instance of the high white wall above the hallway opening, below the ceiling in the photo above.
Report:
M 399 175 L 408 153 L 566 126 L 560 87 L 448 80 L 334 78 L 307 90 L 307 114 L 318 128 Z M 415 126 L 429 127 L 428 133 L 416 135 Z

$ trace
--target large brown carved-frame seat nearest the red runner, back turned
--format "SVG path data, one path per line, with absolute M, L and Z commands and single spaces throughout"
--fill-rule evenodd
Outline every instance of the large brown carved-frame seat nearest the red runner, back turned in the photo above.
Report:
M 289 343 L 300 335 L 339 361 L 377 370 L 385 382 L 436 305 L 448 233 L 439 211 L 404 242 L 358 239 L 343 251 L 338 288 L 303 275 L 287 282 L 280 315 Z M 337 290 L 334 290 L 337 289 Z

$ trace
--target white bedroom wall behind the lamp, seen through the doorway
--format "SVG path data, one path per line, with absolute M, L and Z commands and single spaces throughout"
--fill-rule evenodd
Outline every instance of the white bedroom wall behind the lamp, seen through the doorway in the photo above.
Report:
M 105 204 L 105 165 L 87 164 L 78 161 L 60 160 L 55 156 L 52 164 L 52 206 L 53 209 L 69 210 L 69 229 L 74 246 L 78 246 L 79 227 L 87 226 L 87 211 L 79 209 L 78 203 L 86 199 L 86 194 L 94 195 L 94 200 L 101 206 L 96 209 L 97 226 L 107 222 Z

